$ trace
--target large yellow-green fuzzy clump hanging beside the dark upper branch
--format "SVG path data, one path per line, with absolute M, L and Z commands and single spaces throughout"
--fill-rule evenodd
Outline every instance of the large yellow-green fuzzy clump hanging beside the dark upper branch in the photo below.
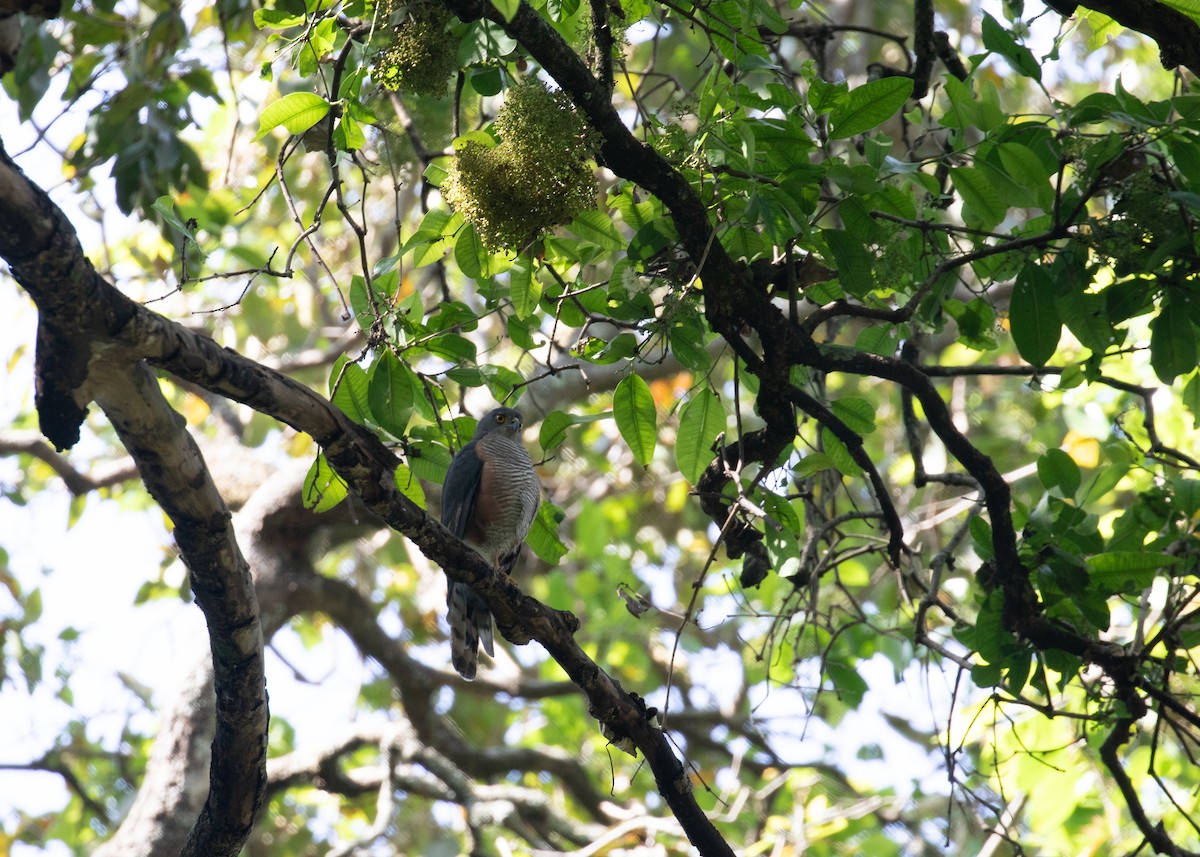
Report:
M 595 208 L 596 134 L 538 78 L 512 86 L 493 122 L 499 144 L 468 140 L 442 192 L 493 250 L 522 250 Z

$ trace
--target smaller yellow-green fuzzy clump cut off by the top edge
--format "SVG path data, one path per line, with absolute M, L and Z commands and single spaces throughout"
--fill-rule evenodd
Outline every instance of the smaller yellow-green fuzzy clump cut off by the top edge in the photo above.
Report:
M 376 80 L 390 90 L 444 96 L 458 68 L 457 43 L 446 34 L 452 18 L 439 2 L 408 4 L 404 20 L 392 28 L 391 43 L 376 56 Z

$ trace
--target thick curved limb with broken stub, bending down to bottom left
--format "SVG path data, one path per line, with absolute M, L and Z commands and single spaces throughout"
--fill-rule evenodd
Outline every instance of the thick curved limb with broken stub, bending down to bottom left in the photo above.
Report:
M 174 523 L 209 625 L 217 690 L 211 789 L 184 853 L 235 855 L 265 793 L 268 712 L 258 601 L 229 510 L 154 373 L 106 335 L 140 307 L 100 277 L 62 211 L 2 149 L 0 256 L 41 311 L 36 366 L 43 431 L 56 447 L 71 445 L 94 398 Z M 108 299 L 113 295 L 119 299 Z

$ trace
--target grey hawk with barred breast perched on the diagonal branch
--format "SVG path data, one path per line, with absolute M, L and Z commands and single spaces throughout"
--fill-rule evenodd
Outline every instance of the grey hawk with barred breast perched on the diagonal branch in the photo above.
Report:
M 450 461 L 442 491 L 442 523 L 502 574 L 512 571 L 541 504 L 541 484 L 521 439 L 523 425 L 512 408 L 484 416 Z M 494 657 L 492 613 L 479 594 L 455 580 L 446 589 L 446 609 L 450 663 L 472 681 L 480 646 Z

